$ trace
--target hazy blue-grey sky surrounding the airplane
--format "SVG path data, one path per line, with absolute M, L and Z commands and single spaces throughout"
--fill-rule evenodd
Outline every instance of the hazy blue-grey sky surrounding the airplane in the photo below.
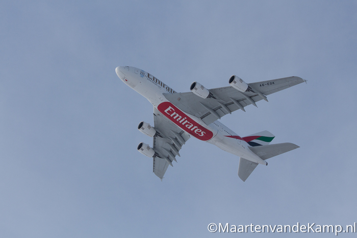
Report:
M 357 222 L 356 12 L 356 1 L 1 1 L 0 237 L 273 237 L 207 226 Z M 191 138 L 161 182 L 136 150 L 152 145 L 137 130 L 153 125 L 152 105 L 119 65 L 180 92 L 233 74 L 306 79 L 221 120 L 300 148 L 242 182 L 238 157 Z

